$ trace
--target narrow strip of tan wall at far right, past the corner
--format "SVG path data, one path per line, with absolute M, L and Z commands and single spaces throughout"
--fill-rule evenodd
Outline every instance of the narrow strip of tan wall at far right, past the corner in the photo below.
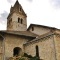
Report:
M 60 34 L 54 36 L 55 49 L 56 49 L 56 60 L 60 60 Z

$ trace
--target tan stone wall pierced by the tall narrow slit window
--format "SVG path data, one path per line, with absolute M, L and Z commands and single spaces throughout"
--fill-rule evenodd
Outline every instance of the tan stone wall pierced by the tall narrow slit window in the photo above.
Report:
M 36 45 L 39 47 L 39 57 L 43 60 L 55 60 L 55 47 L 53 35 L 39 39 L 25 45 L 25 53 L 36 55 Z

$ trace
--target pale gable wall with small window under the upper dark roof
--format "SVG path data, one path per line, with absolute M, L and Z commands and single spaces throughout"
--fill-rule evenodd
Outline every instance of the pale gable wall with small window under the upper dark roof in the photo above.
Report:
M 31 31 L 35 34 L 38 34 L 38 35 L 42 35 L 42 34 L 48 33 L 50 31 L 50 29 L 44 28 L 44 27 L 33 26 L 33 28 L 34 28 L 34 31 L 32 31 L 32 27 L 29 29 L 29 31 Z

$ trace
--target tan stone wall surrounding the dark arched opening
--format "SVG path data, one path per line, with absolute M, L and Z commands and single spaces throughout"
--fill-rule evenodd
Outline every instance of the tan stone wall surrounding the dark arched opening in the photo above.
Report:
M 5 38 L 5 58 L 13 57 L 13 49 L 15 47 L 20 47 L 22 49 L 22 53 L 24 52 L 23 44 L 28 39 L 24 37 L 16 36 L 16 35 L 6 35 Z

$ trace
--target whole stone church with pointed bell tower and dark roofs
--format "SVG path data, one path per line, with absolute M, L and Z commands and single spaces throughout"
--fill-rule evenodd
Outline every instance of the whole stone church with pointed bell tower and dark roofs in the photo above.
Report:
M 0 60 L 27 53 L 43 60 L 60 60 L 60 30 L 30 24 L 18 0 L 10 8 L 7 30 L 0 31 Z

